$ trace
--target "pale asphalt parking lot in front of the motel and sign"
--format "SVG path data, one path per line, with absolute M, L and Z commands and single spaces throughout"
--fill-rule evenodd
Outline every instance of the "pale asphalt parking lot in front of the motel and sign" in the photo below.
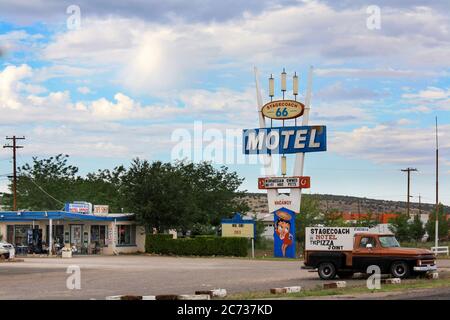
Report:
M 79 266 L 81 289 L 67 289 L 69 266 Z M 106 296 L 192 294 L 225 288 L 230 293 L 268 291 L 273 287 L 314 288 L 317 273 L 301 261 L 233 258 L 181 258 L 147 255 L 79 256 L 72 259 L 25 258 L 0 263 L 0 299 L 105 299 Z M 450 268 L 450 260 L 439 260 Z M 350 280 L 356 285 L 364 280 Z

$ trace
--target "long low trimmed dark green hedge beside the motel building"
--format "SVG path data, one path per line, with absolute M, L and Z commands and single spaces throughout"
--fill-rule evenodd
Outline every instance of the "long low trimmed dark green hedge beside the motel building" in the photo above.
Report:
M 145 241 L 145 251 L 180 256 L 246 257 L 248 240 L 213 236 L 172 239 L 171 235 L 149 234 Z

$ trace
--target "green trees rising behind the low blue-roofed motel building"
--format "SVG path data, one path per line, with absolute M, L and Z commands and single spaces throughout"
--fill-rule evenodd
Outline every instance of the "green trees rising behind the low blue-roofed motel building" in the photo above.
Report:
M 107 204 L 111 212 L 123 207 L 120 187 L 125 172 L 123 166 L 114 170 L 99 170 L 86 177 L 77 175 L 78 168 L 68 164 L 69 156 L 38 159 L 18 168 L 17 202 L 19 209 L 61 210 L 65 202 L 75 200 Z M 12 190 L 12 184 L 10 185 Z M 5 197 L 12 208 L 11 194 Z

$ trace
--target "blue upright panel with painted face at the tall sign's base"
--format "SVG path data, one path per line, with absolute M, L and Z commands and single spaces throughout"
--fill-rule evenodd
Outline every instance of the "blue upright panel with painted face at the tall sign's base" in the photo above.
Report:
M 273 213 L 273 255 L 279 258 L 295 258 L 295 212 L 280 208 Z

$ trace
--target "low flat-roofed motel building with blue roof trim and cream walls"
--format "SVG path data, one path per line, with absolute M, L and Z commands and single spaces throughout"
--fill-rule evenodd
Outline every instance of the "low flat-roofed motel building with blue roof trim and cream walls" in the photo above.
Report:
M 13 244 L 18 254 L 39 242 L 44 252 L 45 248 L 57 252 L 64 245 L 80 254 L 145 251 L 145 230 L 136 224 L 134 214 L 1 211 L 0 238 Z

